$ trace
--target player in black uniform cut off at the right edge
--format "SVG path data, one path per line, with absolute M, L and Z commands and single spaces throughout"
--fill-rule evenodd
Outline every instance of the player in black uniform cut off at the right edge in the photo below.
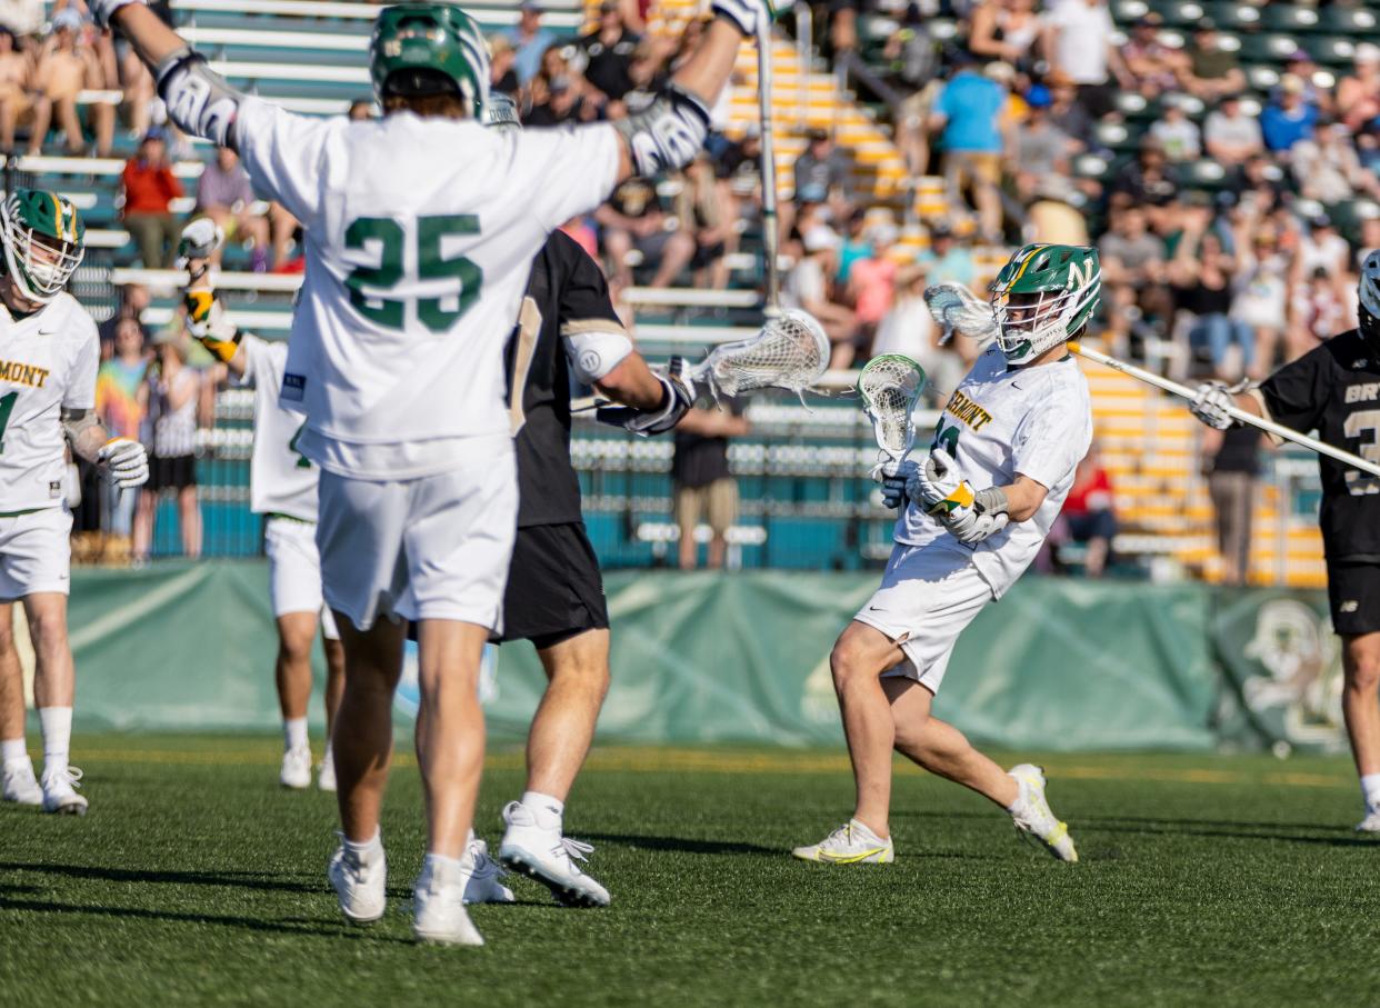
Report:
M 1380 251 L 1361 268 L 1361 326 L 1285 365 L 1257 388 L 1198 389 L 1194 414 L 1227 429 L 1234 405 L 1328 445 L 1380 463 Z M 1366 816 L 1357 827 L 1380 833 L 1380 478 L 1318 456 L 1323 551 L 1333 630 L 1341 637 L 1346 685 L 1341 711 L 1361 775 Z

